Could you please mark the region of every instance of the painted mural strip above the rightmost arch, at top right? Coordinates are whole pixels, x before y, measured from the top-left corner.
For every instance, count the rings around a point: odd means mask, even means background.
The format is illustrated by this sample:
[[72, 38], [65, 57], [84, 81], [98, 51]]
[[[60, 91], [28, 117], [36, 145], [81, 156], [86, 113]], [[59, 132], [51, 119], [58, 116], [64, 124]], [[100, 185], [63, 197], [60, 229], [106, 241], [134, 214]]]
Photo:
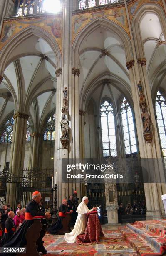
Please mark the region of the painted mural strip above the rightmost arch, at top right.
[[128, 5], [130, 20], [132, 20], [134, 14], [141, 7], [141, 5], [145, 3], [158, 3], [159, 5], [163, 6], [161, 0], [136, 0]]

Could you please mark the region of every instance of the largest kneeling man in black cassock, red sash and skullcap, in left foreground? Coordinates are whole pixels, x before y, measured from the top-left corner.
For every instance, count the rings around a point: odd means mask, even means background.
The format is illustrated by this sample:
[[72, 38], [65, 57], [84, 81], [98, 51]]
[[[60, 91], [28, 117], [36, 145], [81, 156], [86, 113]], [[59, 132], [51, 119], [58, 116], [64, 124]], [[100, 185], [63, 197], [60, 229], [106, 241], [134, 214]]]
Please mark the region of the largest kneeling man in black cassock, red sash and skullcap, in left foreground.
[[[15, 235], [12, 236], [12, 238], [7, 243], [4, 244], [4, 247], [25, 247], [27, 244], [26, 232], [27, 229], [33, 224], [33, 217], [43, 216], [43, 218], [51, 218], [50, 212], [44, 213], [40, 210], [39, 202], [41, 198], [42, 197], [39, 191], [33, 192], [32, 200], [30, 200], [30, 202], [28, 202], [26, 205], [25, 221], [22, 223], [21, 227], [15, 233]], [[40, 231], [40, 236], [36, 241], [37, 251], [46, 254], [47, 250], [45, 250], [45, 247], [43, 246], [44, 242], [42, 241], [42, 238], [45, 235], [47, 223], [45, 223], [45, 219], [41, 220], [41, 223], [42, 230]]]

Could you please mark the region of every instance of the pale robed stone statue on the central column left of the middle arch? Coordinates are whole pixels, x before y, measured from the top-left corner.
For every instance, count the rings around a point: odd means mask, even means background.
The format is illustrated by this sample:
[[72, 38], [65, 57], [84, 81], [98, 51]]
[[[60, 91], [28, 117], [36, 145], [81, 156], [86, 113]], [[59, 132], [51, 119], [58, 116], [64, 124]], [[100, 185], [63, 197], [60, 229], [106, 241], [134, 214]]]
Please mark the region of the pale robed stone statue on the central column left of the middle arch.
[[69, 120], [64, 114], [62, 114], [60, 125], [62, 132], [60, 141], [62, 143], [63, 148], [67, 148], [67, 145], [69, 144]]

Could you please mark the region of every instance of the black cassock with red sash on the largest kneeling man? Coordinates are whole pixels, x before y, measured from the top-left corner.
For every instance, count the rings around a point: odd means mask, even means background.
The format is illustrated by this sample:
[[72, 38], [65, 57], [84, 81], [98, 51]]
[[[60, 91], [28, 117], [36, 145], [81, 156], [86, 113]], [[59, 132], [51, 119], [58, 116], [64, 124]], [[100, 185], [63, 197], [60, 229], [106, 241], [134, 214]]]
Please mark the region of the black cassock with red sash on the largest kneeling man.
[[[40, 210], [40, 206], [37, 202], [34, 200], [31, 200], [27, 206], [26, 206], [26, 212], [25, 212], [25, 220], [20, 226], [20, 228], [17, 230], [14, 236], [10, 238], [10, 240], [4, 244], [4, 247], [25, 247], [27, 244], [25, 234], [27, 232], [27, 228], [30, 227], [30, 225], [33, 224], [33, 220], [30, 220], [26, 218], [26, 213], [34, 216], [45, 216], [45, 213]], [[47, 221], [44, 219], [41, 221], [42, 224], [48, 225]], [[37, 251], [39, 252], [45, 252], [45, 248], [42, 243], [42, 238], [45, 235], [45, 228], [47, 226], [43, 226], [42, 230], [40, 231], [40, 237], [38, 238], [36, 244], [37, 244]]]

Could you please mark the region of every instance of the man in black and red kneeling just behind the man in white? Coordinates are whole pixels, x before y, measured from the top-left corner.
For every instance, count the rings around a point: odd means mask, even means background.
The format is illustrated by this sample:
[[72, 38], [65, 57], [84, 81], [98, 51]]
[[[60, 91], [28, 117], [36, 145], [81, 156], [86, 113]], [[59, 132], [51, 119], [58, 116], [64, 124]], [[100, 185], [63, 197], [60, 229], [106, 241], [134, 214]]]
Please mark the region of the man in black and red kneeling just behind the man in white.
[[[73, 210], [70, 210], [72, 212]], [[55, 224], [53, 224], [50, 228], [48, 228], [48, 232], [50, 234], [57, 234], [58, 231], [63, 227], [62, 220], [66, 217], [66, 212], [69, 212], [67, 209], [67, 200], [63, 199], [62, 204], [59, 207], [59, 217]]]

